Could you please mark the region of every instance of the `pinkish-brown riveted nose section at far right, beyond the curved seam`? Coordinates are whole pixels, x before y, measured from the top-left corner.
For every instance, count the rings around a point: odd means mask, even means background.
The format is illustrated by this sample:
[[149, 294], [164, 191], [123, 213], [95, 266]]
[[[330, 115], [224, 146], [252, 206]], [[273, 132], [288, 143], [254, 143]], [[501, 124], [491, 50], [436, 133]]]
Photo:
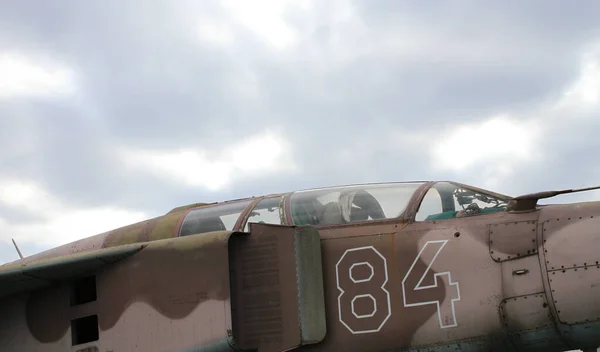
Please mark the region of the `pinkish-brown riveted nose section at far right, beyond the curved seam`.
[[540, 226], [556, 316], [568, 325], [600, 322], [600, 202], [547, 210]]

